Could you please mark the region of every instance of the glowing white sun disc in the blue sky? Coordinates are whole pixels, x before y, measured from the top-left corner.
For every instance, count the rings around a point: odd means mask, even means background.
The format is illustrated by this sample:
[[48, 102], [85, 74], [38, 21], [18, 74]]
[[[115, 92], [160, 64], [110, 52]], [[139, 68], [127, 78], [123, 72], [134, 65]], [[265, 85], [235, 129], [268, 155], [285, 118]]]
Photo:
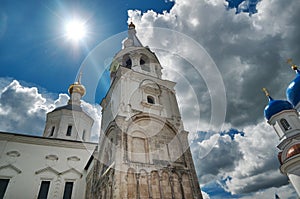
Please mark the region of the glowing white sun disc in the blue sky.
[[83, 21], [72, 19], [65, 25], [66, 36], [73, 41], [79, 41], [86, 36], [86, 26]]

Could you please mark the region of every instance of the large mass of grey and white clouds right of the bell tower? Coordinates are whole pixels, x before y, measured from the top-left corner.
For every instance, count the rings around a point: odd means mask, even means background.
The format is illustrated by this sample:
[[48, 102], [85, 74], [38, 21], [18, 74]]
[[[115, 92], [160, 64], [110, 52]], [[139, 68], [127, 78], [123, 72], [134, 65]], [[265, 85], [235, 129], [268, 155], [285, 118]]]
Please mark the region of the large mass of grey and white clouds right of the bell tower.
[[[295, 63], [300, 63], [297, 58], [300, 54], [300, 4], [275, 0], [260, 1], [255, 6], [258, 12], [249, 17], [245, 13], [236, 15], [234, 10], [226, 10], [221, 1], [177, 0], [169, 13], [159, 15], [129, 11], [129, 16], [138, 33], [142, 32], [139, 35], [141, 40], [150, 47], [151, 43], [147, 43], [149, 37], [156, 39], [152, 41], [156, 45], [156, 42], [163, 42], [160, 40], [163, 35], [143, 32], [145, 27], [170, 28], [194, 39], [208, 52], [222, 76], [227, 99], [224, 128], [234, 127], [245, 134], [234, 135], [232, 140], [226, 135], [201, 135], [199, 140], [193, 132], [207, 130], [205, 123], [210, 121], [213, 108], [210, 94], [214, 91], [207, 89], [204, 78], [197, 76], [185, 61], [159, 57], [171, 68], [179, 68], [181, 76], [186, 77], [185, 81], [193, 88], [187, 89], [187, 84], [181, 84], [184, 82], [182, 79], [167, 73], [167, 79], [178, 83], [176, 92], [184, 125], [192, 132], [192, 150], [200, 183], [203, 185], [230, 177], [228, 179], [231, 180], [227, 180], [223, 187], [232, 194], [270, 197], [273, 193], [269, 190], [280, 187], [278, 189], [285, 189], [288, 198], [295, 196], [295, 192], [287, 191], [290, 187], [283, 186], [287, 184], [287, 178], [278, 169], [278, 139], [263, 118], [263, 109], [268, 101], [261, 88], [267, 87], [275, 99], [285, 98], [285, 89], [295, 76], [286, 60], [294, 57]], [[200, 56], [172, 35], [169, 38], [173, 39], [167, 44], [170, 48], [177, 47], [195, 57]], [[205, 66], [204, 59], [201, 64]], [[217, 89], [218, 82], [215, 87]], [[196, 91], [194, 96], [191, 94], [193, 90]], [[190, 106], [195, 98], [202, 108], [200, 116], [204, 121], [196, 129], [199, 117]], [[214, 139], [216, 136], [219, 136], [218, 140]], [[258, 192], [265, 195], [254, 194]]]

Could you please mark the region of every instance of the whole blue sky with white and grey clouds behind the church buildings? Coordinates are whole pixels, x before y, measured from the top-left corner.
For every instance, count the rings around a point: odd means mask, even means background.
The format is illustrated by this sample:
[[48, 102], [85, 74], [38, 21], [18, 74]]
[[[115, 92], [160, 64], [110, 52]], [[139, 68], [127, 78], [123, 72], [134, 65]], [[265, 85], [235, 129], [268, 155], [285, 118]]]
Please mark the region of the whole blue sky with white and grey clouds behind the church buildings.
[[[205, 198], [295, 198], [278, 169], [279, 140], [263, 117], [261, 88], [285, 98], [295, 76], [286, 60], [300, 62], [299, 17], [298, 1], [281, 0], [1, 1], [0, 130], [41, 135], [45, 114], [67, 102], [69, 84], [88, 67], [83, 83], [92, 95], [83, 106], [99, 121], [106, 67], [132, 20], [164, 78], [178, 82]], [[87, 29], [79, 41], [66, 35], [74, 18]], [[96, 85], [91, 71], [101, 76]]]

